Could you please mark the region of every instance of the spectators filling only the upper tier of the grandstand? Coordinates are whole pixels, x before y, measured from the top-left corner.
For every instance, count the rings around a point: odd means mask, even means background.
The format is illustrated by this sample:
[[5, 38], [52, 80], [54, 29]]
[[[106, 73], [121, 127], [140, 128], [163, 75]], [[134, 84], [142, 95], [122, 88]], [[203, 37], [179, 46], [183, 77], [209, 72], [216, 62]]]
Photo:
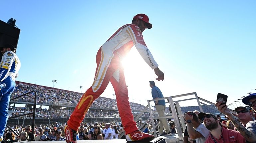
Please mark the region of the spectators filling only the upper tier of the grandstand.
[[[73, 92], [63, 89], [54, 89], [50, 87], [18, 82], [18, 84], [16, 84], [14, 92], [12, 93], [12, 98], [29, 92], [31, 90], [35, 90], [37, 92], [38, 105], [63, 105], [65, 107], [71, 105], [75, 107], [82, 96], [82, 93], [79, 92]], [[30, 94], [20, 97], [19, 99], [15, 99], [15, 102], [34, 102], [34, 96], [35, 93], [32, 92]], [[141, 111], [145, 108], [145, 106], [138, 103], [130, 102], [130, 105], [132, 111]], [[97, 98], [92, 103], [91, 108], [118, 110], [116, 100], [106, 97]]]

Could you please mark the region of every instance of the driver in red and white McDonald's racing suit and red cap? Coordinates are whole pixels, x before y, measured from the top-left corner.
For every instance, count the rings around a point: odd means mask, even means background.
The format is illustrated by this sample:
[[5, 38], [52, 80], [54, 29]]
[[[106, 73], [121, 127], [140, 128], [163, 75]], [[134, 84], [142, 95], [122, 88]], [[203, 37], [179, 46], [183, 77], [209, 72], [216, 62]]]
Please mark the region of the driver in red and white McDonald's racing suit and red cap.
[[83, 94], [77, 103], [70, 119], [64, 126], [66, 142], [76, 142], [75, 133], [85, 117], [92, 102], [106, 89], [109, 81], [116, 94], [118, 111], [124, 126], [127, 141], [150, 141], [155, 137], [138, 130], [133, 120], [131, 107], [128, 101], [128, 89], [125, 84], [121, 59], [130, 51], [133, 45], [143, 59], [155, 70], [156, 80], [164, 80], [163, 72], [158, 68], [152, 54], [147, 48], [142, 32], [152, 28], [145, 14], [138, 14], [133, 18], [132, 24], [120, 27], [98, 50], [96, 55], [97, 68], [92, 86]]

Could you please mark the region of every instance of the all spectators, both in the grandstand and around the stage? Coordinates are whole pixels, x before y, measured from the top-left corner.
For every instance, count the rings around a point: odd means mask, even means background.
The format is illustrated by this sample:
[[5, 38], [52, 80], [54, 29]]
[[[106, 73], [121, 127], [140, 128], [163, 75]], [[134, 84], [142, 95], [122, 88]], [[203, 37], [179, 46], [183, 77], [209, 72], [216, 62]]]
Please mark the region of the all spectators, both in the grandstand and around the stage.
[[[77, 101], [80, 99], [81, 95], [80, 93], [77, 92], [71, 92], [71, 91], [66, 91], [66, 90], [61, 90], [61, 89], [50, 89], [47, 87], [42, 87], [42, 86], [36, 86], [36, 85], [30, 85], [30, 84], [24, 84], [24, 83], [19, 83], [17, 84], [16, 90], [13, 93], [13, 97], [18, 96], [23, 94], [24, 92], [30, 91], [30, 90], [36, 90], [38, 93], [38, 102], [39, 103], [47, 103], [47, 102], [52, 102], [52, 104], [76, 104]], [[23, 97], [21, 100], [19, 101], [28, 101], [32, 100], [34, 93], [28, 94], [26, 97]], [[66, 94], [69, 94], [69, 96], [64, 96]], [[223, 119], [220, 118], [220, 116], [216, 116], [216, 113], [219, 113], [216, 110], [213, 110], [212, 108], [209, 108], [208, 106], [202, 106], [203, 110], [205, 111], [205, 113], [201, 112], [199, 113], [197, 110], [199, 110], [198, 106], [190, 106], [190, 107], [181, 107], [181, 110], [184, 114], [184, 119], [185, 122], [187, 122], [187, 133], [185, 130], [184, 133], [184, 142], [188, 143], [191, 142], [193, 143], [193, 140], [195, 140], [197, 143], [213, 143], [211, 139], [209, 139], [209, 135], [212, 134], [211, 138], [212, 139], [220, 139], [217, 138], [219, 137], [219, 133], [223, 133], [223, 136], [226, 136], [226, 133], [232, 133], [233, 136], [232, 139], [233, 141], [235, 141], [234, 139], [237, 138], [237, 140], [235, 142], [239, 142], [239, 143], [245, 143], [245, 141], [247, 142], [255, 142], [256, 141], [256, 120], [255, 120], [255, 111], [256, 111], [256, 93], [253, 93], [252, 95], [248, 95], [251, 96], [250, 98], [248, 98], [248, 101], [243, 101], [244, 104], [249, 105], [248, 107], [237, 107], [234, 111], [236, 112], [236, 114], [231, 114], [231, 112], [229, 111], [229, 109], [227, 109], [225, 106], [220, 105], [220, 103], [216, 103], [216, 107], [219, 110], [219, 112], [221, 112], [222, 114], [226, 114], [226, 120], [223, 121]], [[65, 97], [65, 98], [63, 98]], [[246, 98], [246, 97], [245, 97]], [[77, 99], [76, 101], [73, 101], [73, 99]], [[18, 101], [18, 102], [19, 102]], [[33, 101], [33, 100], [32, 100]], [[250, 101], [250, 102], [249, 102]], [[18, 103], [17, 102], [17, 103]], [[108, 103], [108, 105], [110, 104], [111, 107], [106, 107], [104, 105], [107, 105], [106, 103]], [[140, 104], [137, 103], [130, 103], [131, 104], [131, 108], [132, 108], [132, 112], [133, 114], [136, 116], [138, 115], [141, 111], [145, 108], [145, 106], [142, 106]], [[213, 105], [210, 105], [213, 106]], [[213, 106], [213, 107], [215, 107]], [[53, 106], [52, 106], [53, 107]], [[57, 106], [55, 106], [57, 107]], [[105, 110], [104, 110], [105, 109]], [[24, 107], [9, 107], [11, 116], [15, 116], [15, 115], [19, 115], [21, 113], [25, 113], [25, 112], [31, 112], [32, 109], [26, 109]], [[191, 112], [192, 110], [195, 110], [194, 112]], [[190, 112], [188, 112], [190, 111]], [[169, 107], [166, 107], [165, 110], [166, 114], [170, 113]], [[206, 113], [208, 112], [208, 113]], [[47, 110], [46, 108], [42, 109], [42, 108], [37, 108], [36, 110], [36, 116], [37, 118], [66, 118], [69, 117], [70, 114], [72, 113], [70, 110], [68, 109], [62, 109], [59, 107], [58, 108], [51, 108], [49, 110]], [[154, 112], [153, 112], [154, 113]], [[214, 115], [215, 114], [215, 115]], [[198, 116], [197, 116], [198, 115]], [[149, 117], [149, 113], [144, 113], [143, 115], [144, 117]], [[237, 117], [235, 117], [237, 116]], [[116, 105], [116, 101], [114, 99], [110, 99], [110, 98], [105, 98], [105, 97], [99, 97], [98, 99], [95, 100], [95, 102], [93, 102], [91, 109], [87, 112], [86, 118], [95, 118], [95, 117], [105, 117], [105, 118], [111, 118], [111, 117], [119, 117], [118, 115], [118, 110], [117, 110], [117, 105]], [[155, 115], [154, 115], [155, 117]], [[183, 120], [182, 118], [180, 118], [181, 120]], [[169, 119], [171, 120], [171, 119]], [[255, 120], [255, 121], [254, 121]], [[156, 126], [156, 131], [159, 129], [157, 124], [159, 124], [159, 121], [156, 120], [154, 121]], [[223, 124], [221, 124], [223, 123]], [[172, 129], [172, 133], [176, 133], [176, 129], [175, 129], [175, 124], [174, 121], [170, 121], [170, 128]], [[214, 128], [215, 125], [216, 128]], [[143, 121], [139, 120], [137, 121], [137, 126], [144, 132], [147, 133], [152, 133], [153, 131], [153, 125], [151, 125], [150, 121]], [[19, 139], [21, 138], [22, 140], [26, 140], [26, 138], [24, 138], [24, 136], [28, 136], [29, 133], [25, 133], [25, 131], [27, 130], [27, 127], [24, 127], [23, 125], [20, 126], [12, 126], [12, 128], [14, 129], [14, 131], [18, 134], [15, 135], [13, 132], [9, 132], [8, 128], [5, 131], [5, 138], [6, 139]], [[81, 123], [81, 126], [79, 127], [78, 131], [77, 131], [77, 139], [80, 140], [86, 140], [86, 139], [96, 139], [95, 136], [93, 134], [95, 134], [95, 129], [99, 129], [100, 130], [104, 130], [104, 128], [111, 128], [114, 132], [112, 132], [113, 134], [109, 137], [109, 139], [112, 138], [120, 138], [122, 136], [122, 134], [124, 133], [123, 130], [123, 126], [120, 122], [111, 122], [111, 123], [97, 123], [95, 122], [94, 124], [92, 123]], [[187, 129], [186, 128], [186, 129]], [[200, 129], [199, 129], [200, 128]], [[196, 130], [197, 132], [195, 132], [194, 130]], [[222, 130], [224, 130], [224, 132], [222, 132]], [[234, 132], [234, 131], [230, 131], [230, 130], [238, 130], [239, 132]], [[44, 132], [46, 131], [46, 132]], [[43, 132], [43, 134], [42, 134]], [[55, 133], [57, 133], [57, 135], [59, 137], [57, 137], [55, 135], [55, 138], [52, 138], [49, 133], [54, 132], [52, 134], [50, 134], [51, 136]], [[97, 139], [106, 139], [106, 137], [104, 137], [104, 133], [103, 132], [99, 132], [99, 130], [96, 130], [96, 133], [99, 135], [99, 137], [97, 137]], [[110, 132], [111, 133], [111, 132]], [[110, 134], [109, 133], [109, 134]], [[39, 126], [35, 126], [35, 132], [33, 133], [34, 136], [40, 136], [43, 137], [43, 140], [65, 140], [64, 138], [64, 131], [63, 131], [63, 126], [62, 124], [58, 124], [56, 123], [55, 125], [39, 125]], [[62, 137], [60, 137], [60, 135]], [[189, 137], [190, 135], [190, 137]], [[186, 138], [187, 136], [187, 138]], [[47, 138], [46, 138], [47, 137]], [[125, 136], [124, 136], [125, 138]], [[36, 139], [36, 138], [35, 138]], [[221, 139], [220, 139], [221, 140]], [[222, 138], [222, 142], [228, 142], [228, 140], [224, 140]]]

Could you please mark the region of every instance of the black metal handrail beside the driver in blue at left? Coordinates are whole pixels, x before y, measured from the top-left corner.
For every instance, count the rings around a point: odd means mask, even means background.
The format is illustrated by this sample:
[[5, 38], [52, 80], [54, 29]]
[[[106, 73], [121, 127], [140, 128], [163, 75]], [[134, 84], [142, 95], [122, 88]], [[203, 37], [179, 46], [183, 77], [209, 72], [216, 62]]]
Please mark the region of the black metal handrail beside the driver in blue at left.
[[[19, 95], [17, 97], [14, 97], [12, 99], [10, 99], [10, 101], [14, 100], [14, 99], [17, 99], [19, 97], [22, 97], [26, 94], [29, 94], [31, 92], [34, 92], [35, 93], [35, 103], [34, 103], [34, 108], [33, 108], [33, 112], [30, 112], [30, 113], [25, 113], [25, 114], [20, 114], [20, 115], [17, 115], [17, 116], [13, 116], [13, 117], [10, 117], [9, 119], [12, 119], [12, 118], [16, 118], [16, 117], [21, 117], [21, 116], [24, 116], [24, 115], [30, 115], [30, 114], [33, 114], [33, 119], [32, 119], [32, 134], [31, 134], [31, 137], [29, 138], [29, 141], [32, 141], [34, 139], [34, 127], [35, 127], [35, 117], [36, 117], [36, 106], [37, 106], [37, 92], [35, 90], [31, 90], [29, 92], [26, 92], [22, 95]], [[8, 119], [8, 120], [9, 120]], [[6, 125], [7, 127], [10, 128], [10, 126]], [[11, 128], [10, 128], [11, 129]], [[12, 130], [12, 129], [11, 129]], [[13, 131], [13, 130], [12, 130]], [[19, 134], [17, 134], [15, 131], [13, 131], [17, 136], [19, 136]]]

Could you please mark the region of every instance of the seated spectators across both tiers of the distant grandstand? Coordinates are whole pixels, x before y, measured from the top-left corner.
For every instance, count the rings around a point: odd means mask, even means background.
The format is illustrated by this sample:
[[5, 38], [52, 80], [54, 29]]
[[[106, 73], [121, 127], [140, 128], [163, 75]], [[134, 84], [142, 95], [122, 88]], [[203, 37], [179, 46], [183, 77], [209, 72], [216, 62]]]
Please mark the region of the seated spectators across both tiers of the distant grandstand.
[[[44, 109], [37, 108], [36, 118], [44, 118], [44, 119], [68, 118], [72, 114], [72, 110], [70, 111], [69, 110], [70, 108], [64, 108], [64, 109], [60, 107], [58, 108], [58, 105], [63, 105], [63, 106], [66, 105], [66, 107], [68, 105], [70, 107], [71, 105], [72, 107], [75, 107], [78, 100], [82, 96], [82, 94], [78, 92], [67, 91], [62, 89], [54, 89], [50, 87], [18, 82], [18, 84], [16, 84], [16, 89], [12, 94], [12, 98], [31, 90], [35, 90], [37, 92], [38, 104], [49, 105], [49, 110], [47, 110], [46, 108]], [[34, 102], [34, 99], [33, 99], [34, 96], [35, 96], [34, 92], [32, 92], [30, 94], [22, 96], [19, 99], [16, 99], [15, 102], [16, 103]], [[56, 105], [56, 106], [53, 106], [55, 108], [50, 108], [52, 107], [51, 105]], [[108, 106], [105, 106], [105, 105], [108, 105]], [[145, 106], [138, 103], [130, 102], [130, 105], [131, 105], [132, 113], [135, 117], [139, 115], [140, 111], [145, 108]], [[211, 113], [216, 112], [207, 106], [202, 106], [202, 107], [203, 107], [203, 110], [206, 112], [211, 112]], [[181, 107], [181, 110], [182, 112], [185, 112], [188, 110], [199, 110], [199, 107], [198, 106]], [[10, 111], [9, 116], [12, 117], [12, 116], [19, 115], [21, 113], [25, 113], [25, 111], [26, 113], [33, 112], [33, 109], [28, 108], [26, 110], [25, 107], [10, 106], [9, 111]], [[170, 115], [169, 107], [166, 107], [165, 113]], [[157, 113], [153, 112], [153, 114], [157, 114]], [[27, 115], [27, 117], [31, 118], [32, 114]], [[106, 97], [97, 98], [92, 103], [90, 110], [85, 115], [85, 118], [97, 118], [97, 117], [118, 118], [119, 113], [117, 109], [116, 100], [111, 98], [106, 98]], [[149, 110], [147, 110], [147, 112], [145, 112], [141, 117], [149, 117]]]

